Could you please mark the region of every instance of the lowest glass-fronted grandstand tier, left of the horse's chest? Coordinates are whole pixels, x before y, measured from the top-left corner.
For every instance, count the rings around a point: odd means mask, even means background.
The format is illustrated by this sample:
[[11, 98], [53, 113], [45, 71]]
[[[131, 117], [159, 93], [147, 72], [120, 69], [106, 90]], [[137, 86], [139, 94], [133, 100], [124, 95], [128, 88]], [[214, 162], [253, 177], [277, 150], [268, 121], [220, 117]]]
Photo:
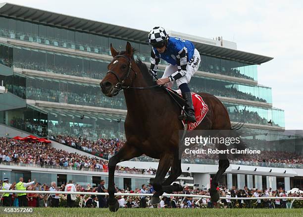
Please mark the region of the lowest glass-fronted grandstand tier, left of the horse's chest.
[[99, 138], [124, 139], [123, 116], [77, 110], [22, 108], [7, 110], [1, 122], [8, 126], [45, 137], [64, 135], [83, 137], [92, 141]]

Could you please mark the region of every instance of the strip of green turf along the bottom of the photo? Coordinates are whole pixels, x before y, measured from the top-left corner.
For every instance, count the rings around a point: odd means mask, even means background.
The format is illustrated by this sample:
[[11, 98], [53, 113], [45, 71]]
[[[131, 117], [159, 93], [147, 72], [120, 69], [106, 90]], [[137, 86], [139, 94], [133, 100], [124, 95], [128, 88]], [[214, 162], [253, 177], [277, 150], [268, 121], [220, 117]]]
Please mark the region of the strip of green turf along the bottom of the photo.
[[[0, 216], [21, 216], [20, 214]], [[22, 215], [25, 216], [25, 215]], [[303, 209], [108, 209], [36, 208], [29, 217], [302, 217]]]

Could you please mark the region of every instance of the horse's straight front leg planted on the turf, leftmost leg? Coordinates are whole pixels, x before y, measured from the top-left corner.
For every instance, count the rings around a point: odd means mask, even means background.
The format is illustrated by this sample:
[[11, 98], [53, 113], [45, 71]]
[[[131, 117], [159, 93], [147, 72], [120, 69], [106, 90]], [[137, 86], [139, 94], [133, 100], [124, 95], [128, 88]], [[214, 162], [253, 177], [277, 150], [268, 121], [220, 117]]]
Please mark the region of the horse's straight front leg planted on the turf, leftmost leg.
[[135, 147], [131, 146], [126, 142], [123, 147], [118, 151], [117, 154], [112, 156], [108, 161], [108, 194], [109, 201], [108, 207], [111, 212], [116, 212], [119, 209], [119, 203], [115, 199], [115, 185], [114, 185], [114, 173], [117, 163], [128, 161], [132, 158], [141, 156], [142, 153], [139, 152]]

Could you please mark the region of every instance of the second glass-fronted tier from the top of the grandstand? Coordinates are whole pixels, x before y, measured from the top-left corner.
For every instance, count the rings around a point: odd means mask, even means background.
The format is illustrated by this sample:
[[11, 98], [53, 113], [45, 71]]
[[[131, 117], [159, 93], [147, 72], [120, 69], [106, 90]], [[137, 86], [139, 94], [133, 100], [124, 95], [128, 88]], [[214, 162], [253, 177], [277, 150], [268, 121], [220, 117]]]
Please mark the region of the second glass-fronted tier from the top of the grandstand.
[[[6, 48], [5, 46], [0, 46]], [[54, 72], [65, 75], [102, 79], [107, 71], [108, 60], [84, 58], [62, 53], [51, 53], [28, 48], [10, 48], [12, 65], [18, 68]], [[3, 57], [4, 58], [4, 57]], [[159, 75], [161, 72], [159, 72]], [[261, 86], [247, 86], [231, 82], [193, 77], [191, 88], [194, 92], [206, 92], [215, 96], [271, 102], [271, 89]]]

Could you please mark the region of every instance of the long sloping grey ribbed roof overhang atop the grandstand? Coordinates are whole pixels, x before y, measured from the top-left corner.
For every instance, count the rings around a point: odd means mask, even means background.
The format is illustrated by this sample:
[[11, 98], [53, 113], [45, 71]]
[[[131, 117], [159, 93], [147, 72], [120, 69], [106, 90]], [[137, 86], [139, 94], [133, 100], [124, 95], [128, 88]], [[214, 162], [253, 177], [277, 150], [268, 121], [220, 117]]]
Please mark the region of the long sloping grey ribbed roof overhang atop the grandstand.
[[[68, 16], [11, 3], [0, 3], [0, 15], [62, 28], [122, 38], [130, 41], [147, 43], [147, 31]], [[199, 50], [200, 54], [237, 60], [246, 62], [248, 64], [261, 64], [273, 59], [272, 57], [268, 56], [228, 49], [216, 45], [195, 42], [194, 44]]]

